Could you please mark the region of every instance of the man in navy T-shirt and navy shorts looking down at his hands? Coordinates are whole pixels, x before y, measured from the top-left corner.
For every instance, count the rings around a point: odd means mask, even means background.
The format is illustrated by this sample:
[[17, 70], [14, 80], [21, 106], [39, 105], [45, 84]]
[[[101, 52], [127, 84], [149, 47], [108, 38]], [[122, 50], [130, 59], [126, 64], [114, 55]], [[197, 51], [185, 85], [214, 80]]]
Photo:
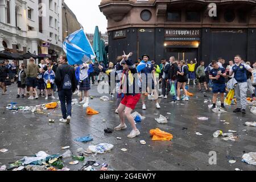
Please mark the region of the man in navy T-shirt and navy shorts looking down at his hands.
[[220, 68], [217, 61], [212, 61], [212, 70], [209, 73], [209, 78], [212, 80], [212, 92], [213, 92], [213, 106], [212, 109], [216, 108], [217, 102], [217, 95], [220, 93], [221, 95], [221, 109], [226, 110], [224, 106], [224, 93], [226, 92], [226, 85], [225, 85], [225, 77], [226, 77], [226, 70], [225, 68]]

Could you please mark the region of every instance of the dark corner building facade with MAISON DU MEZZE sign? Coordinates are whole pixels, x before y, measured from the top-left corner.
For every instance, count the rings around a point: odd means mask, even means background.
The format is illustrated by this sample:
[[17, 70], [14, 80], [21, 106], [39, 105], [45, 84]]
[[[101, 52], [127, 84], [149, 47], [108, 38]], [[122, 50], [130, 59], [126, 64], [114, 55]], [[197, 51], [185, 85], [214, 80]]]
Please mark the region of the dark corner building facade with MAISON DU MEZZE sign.
[[108, 19], [110, 60], [125, 50], [158, 63], [170, 56], [256, 61], [255, 0], [102, 0], [99, 7]]

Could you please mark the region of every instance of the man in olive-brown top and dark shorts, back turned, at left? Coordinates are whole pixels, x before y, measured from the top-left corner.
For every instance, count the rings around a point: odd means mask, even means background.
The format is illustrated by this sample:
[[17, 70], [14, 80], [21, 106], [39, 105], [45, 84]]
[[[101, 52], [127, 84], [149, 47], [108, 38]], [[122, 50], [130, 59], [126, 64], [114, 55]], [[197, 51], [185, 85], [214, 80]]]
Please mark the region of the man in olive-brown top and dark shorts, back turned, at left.
[[33, 100], [33, 92], [35, 92], [35, 99], [38, 99], [38, 93], [36, 90], [36, 86], [38, 86], [38, 73], [39, 67], [35, 64], [35, 59], [30, 57], [30, 63], [27, 65], [27, 87], [30, 90], [30, 97], [28, 99]]

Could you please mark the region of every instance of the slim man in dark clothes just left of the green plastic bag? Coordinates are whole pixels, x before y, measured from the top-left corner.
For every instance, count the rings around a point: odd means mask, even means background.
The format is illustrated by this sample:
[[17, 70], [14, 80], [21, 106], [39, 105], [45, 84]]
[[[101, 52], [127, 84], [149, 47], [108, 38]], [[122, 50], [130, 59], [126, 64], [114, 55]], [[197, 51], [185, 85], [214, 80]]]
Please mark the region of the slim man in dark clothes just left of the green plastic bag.
[[168, 80], [168, 72], [170, 70], [170, 63], [168, 63], [166, 61], [166, 59], [162, 59], [162, 63], [163, 63], [163, 69], [161, 72], [161, 82], [162, 82], [162, 95], [159, 96], [159, 98], [164, 98], [167, 99], [168, 98], [168, 94], [170, 92], [170, 84], [169, 84], [169, 80]]

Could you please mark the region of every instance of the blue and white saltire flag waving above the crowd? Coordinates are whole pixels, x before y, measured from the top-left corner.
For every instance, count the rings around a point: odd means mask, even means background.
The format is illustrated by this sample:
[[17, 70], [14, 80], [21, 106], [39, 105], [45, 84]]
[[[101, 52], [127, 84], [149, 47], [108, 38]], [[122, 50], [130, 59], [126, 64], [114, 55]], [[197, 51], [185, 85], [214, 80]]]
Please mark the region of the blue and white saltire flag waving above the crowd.
[[70, 65], [86, 63], [96, 58], [83, 29], [73, 32], [65, 38], [63, 50]]

